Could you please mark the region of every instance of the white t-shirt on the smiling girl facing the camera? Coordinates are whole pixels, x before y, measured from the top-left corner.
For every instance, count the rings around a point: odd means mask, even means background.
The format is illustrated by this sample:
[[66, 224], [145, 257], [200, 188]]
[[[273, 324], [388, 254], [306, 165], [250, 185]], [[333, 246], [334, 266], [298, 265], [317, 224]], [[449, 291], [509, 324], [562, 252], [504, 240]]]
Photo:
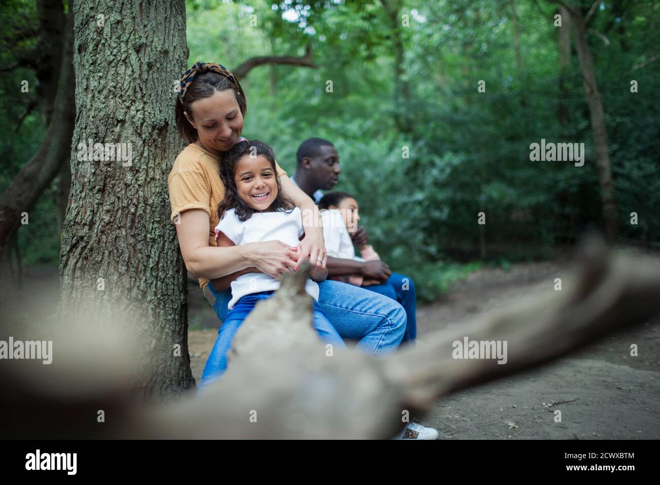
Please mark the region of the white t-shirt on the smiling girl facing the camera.
[[[278, 212], [255, 212], [245, 222], [238, 220], [236, 210], [227, 210], [215, 228], [227, 236], [234, 244], [241, 245], [253, 242], [267, 242], [279, 240], [286, 245], [296, 247], [300, 243], [300, 236], [305, 232], [302, 227], [300, 209], [295, 207], [287, 214], [283, 210]], [[232, 300], [228, 309], [232, 309], [242, 296], [268, 290], [277, 290], [279, 280], [265, 273], [246, 273], [232, 281]], [[305, 291], [308, 295], [319, 301], [319, 285], [311, 278], [307, 278]]]

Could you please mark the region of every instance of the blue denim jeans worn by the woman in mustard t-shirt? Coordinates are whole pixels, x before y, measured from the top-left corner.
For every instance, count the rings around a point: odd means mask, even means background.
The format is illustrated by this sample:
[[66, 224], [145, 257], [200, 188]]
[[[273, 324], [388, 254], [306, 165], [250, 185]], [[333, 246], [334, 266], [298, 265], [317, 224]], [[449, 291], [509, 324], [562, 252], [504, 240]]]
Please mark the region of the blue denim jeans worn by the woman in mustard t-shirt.
[[[315, 308], [325, 313], [327, 319], [332, 322], [331, 327], [336, 329], [342, 339], [358, 340], [356, 348], [371, 355], [385, 354], [397, 349], [406, 329], [406, 312], [401, 305], [386, 296], [352, 284], [325, 280], [318, 285], [319, 301]], [[213, 288], [213, 283], [209, 282], [209, 290], [215, 296], [213, 309], [224, 323], [207, 359], [199, 383], [200, 388], [224, 372], [225, 356], [238, 329], [238, 325], [232, 325], [223, 331], [225, 325], [230, 323], [231, 311], [228, 311], [227, 304], [232, 299], [232, 289], [218, 292]]]

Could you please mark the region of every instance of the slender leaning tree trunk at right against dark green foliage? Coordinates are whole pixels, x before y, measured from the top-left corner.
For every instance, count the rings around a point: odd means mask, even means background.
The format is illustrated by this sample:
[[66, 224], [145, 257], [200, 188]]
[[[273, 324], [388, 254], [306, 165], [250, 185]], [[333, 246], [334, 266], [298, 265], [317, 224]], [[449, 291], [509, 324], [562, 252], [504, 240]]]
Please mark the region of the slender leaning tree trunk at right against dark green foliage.
[[582, 71], [589, 113], [591, 115], [591, 131], [593, 133], [593, 144], [596, 150], [596, 170], [598, 181], [601, 186], [601, 197], [603, 198], [603, 218], [605, 220], [605, 234], [609, 242], [616, 241], [618, 237], [618, 209], [616, 207], [616, 196], [612, 184], [612, 172], [610, 168], [610, 154], [607, 146], [607, 128], [605, 127], [605, 113], [601, 95], [596, 85], [596, 77], [593, 72], [591, 52], [587, 43], [587, 33], [579, 9], [570, 7], [571, 24], [578, 51], [579, 65]]

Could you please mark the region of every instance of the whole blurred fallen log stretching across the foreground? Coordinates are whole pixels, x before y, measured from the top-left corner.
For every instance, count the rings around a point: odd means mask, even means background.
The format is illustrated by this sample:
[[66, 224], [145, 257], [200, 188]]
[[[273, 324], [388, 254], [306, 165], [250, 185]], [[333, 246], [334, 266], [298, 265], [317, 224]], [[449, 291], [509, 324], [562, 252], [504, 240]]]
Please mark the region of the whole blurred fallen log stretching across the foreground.
[[[11, 389], [0, 403], [9, 423], [5, 432], [40, 438], [389, 438], [403, 426], [405, 410], [424, 412], [447, 393], [543, 364], [660, 313], [657, 261], [608, 255], [598, 243], [583, 249], [581, 261], [581, 271], [562, 291], [549, 290], [545, 298], [482, 315], [379, 358], [329, 352], [318, 339], [303, 290], [305, 268], [285, 278], [276, 296], [246, 319], [222, 379], [195, 399], [167, 406], [133, 404], [129, 362], [135, 350], [110, 335], [110, 327], [94, 344], [81, 345], [80, 335], [60, 337], [50, 366], [3, 362], [1, 384]], [[464, 337], [506, 341], [506, 364], [453, 358], [453, 342]], [[104, 422], [98, 422], [99, 410]]]

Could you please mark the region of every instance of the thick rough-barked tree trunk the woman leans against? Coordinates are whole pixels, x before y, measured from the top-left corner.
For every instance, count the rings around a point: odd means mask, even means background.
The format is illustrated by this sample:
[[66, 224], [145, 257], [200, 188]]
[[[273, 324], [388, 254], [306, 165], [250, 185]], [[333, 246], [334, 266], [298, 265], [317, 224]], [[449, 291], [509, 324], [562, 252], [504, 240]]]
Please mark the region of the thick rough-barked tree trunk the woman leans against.
[[[186, 273], [167, 187], [183, 148], [173, 82], [187, 62], [185, 1], [77, 1], [73, 13], [78, 116], [59, 317], [128, 323], [131, 338], [145, 342], [135, 356], [135, 398], [169, 401], [195, 388]], [[92, 157], [78, 148], [89, 140], [125, 144], [132, 158]]]

